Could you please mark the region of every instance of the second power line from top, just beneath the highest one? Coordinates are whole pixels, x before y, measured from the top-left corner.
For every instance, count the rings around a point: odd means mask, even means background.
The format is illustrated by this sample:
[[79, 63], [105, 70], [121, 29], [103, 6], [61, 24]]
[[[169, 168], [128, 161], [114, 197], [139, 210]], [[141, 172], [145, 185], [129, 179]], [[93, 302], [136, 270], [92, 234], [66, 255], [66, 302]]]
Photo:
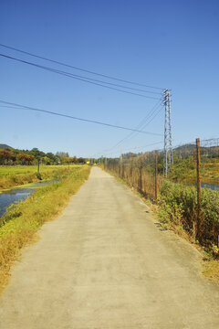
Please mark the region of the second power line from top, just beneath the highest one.
[[[122, 87], [122, 88], [128, 88], [128, 89], [131, 89], [131, 90], [136, 90], [136, 89], [133, 89], [133, 88], [130, 88], [130, 87], [125, 87], [125, 86], [123, 87], [123, 86], [120, 86], [120, 85], [116, 85], [116, 84], [112, 84], [110, 82], [105, 82], [105, 81], [100, 81], [100, 80], [96, 80], [96, 81], [99, 81], [99, 83], [97, 83], [97, 82], [94, 82], [95, 80], [87, 78], [87, 77], [81, 77], [81, 76], [78, 76], [78, 75], [75, 75], [75, 74], [72, 74], [72, 73], [69, 73], [69, 72], [66, 72], [66, 71], [61, 71], [61, 70], [58, 70], [58, 69], [52, 69], [52, 68], [45, 67], [45, 66], [42, 66], [42, 65], [39, 65], [39, 64], [36, 64], [36, 63], [32, 63], [32, 62], [29, 62], [29, 61], [26, 61], [26, 60], [23, 60], [23, 59], [20, 59], [20, 58], [14, 58], [14, 57], [11, 57], [11, 56], [7, 56], [5, 54], [0, 54], [0, 56], [4, 57], [4, 58], [8, 58], [8, 59], [13, 59], [13, 60], [16, 60], [18, 62], [27, 64], [27, 65], [30, 65], [30, 66], [34, 66], [34, 67], [39, 68], [39, 69], [46, 69], [47, 71], [51, 71], [51, 72], [66, 76], [68, 78], [88, 82], [90, 84], [94, 84], [94, 85], [97, 85], [97, 86], [100, 86], [100, 87], [103, 87], [103, 88], [108, 88], [110, 90], [117, 90], [117, 91], [125, 92], [125, 93], [131, 94], [131, 95], [141, 96], [141, 97], [149, 98], [149, 99], [152, 99], [152, 100], [159, 100], [158, 97], [151, 97], [151, 96], [141, 95], [141, 94], [136, 93], [136, 92], [131, 92], [131, 91], [127, 91], [127, 90], [120, 90], [118, 88], [105, 86], [101, 83], [107, 83], [107, 84], [119, 86], [119, 87]], [[146, 90], [145, 90], [145, 92], [146, 92]]]

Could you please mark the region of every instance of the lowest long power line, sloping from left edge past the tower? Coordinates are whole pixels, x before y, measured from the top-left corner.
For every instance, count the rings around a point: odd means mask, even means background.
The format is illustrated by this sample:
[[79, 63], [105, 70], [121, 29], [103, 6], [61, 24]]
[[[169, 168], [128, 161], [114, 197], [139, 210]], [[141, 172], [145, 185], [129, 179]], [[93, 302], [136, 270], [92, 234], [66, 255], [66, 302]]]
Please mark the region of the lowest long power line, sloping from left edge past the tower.
[[146, 133], [146, 134], [151, 134], [151, 135], [156, 135], [156, 136], [162, 136], [161, 133], [144, 132], [144, 131], [140, 131], [140, 130], [136, 130], [136, 129], [124, 127], [124, 126], [110, 124], [110, 123], [107, 123], [107, 122], [98, 122], [98, 121], [95, 121], [95, 120], [78, 118], [78, 117], [75, 117], [75, 116], [72, 116], [72, 115], [62, 114], [62, 113], [58, 113], [58, 112], [54, 112], [54, 111], [41, 110], [41, 109], [33, 108], [33, 107], [30, 107], [30, 106], [17, 104], [17, 103], [14, 103], [14, 102], [1, 101], [1, 100], [0, 100], [0, 102], [2, 102], [3, 104], [9, 105], [9, 106], [10, 105], [16, 106], [16, 107], [18, 107], [19, 109], [22, 109], [22, 110], [40, 111], [40, 112], [44, 112], [44, 113], [48, 113], [48, 114], [53, 114], [53, 115], [65, 117], [65, 118], [68, 118], [68, 119], [78, 120], [78, 121], [82, 121], [82, 122], [91, 122], [91, 123], [101, 124], [101, 125], [108, 126], [108, 127], [113, 127], [113, 128], [128, 130], [128, 131], [132, 131], [132, 132]]

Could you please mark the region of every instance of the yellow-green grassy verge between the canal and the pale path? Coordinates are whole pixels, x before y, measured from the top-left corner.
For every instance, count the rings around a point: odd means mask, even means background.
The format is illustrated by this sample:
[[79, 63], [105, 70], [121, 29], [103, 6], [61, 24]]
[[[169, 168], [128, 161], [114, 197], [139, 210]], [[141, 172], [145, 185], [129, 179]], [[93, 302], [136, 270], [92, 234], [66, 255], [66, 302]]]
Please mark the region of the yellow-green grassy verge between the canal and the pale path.
[[89, 177], [90, 166], [83, 165], [68, 171], [59, 183], [45, 186], [26, 201], [11, 207], [0, 225], [0, 292], [4, 289], [10, 267], [20, 249], [34, 240], [36, 231], [46, 221], [54, 219], [67, 205], [70, 196]]

